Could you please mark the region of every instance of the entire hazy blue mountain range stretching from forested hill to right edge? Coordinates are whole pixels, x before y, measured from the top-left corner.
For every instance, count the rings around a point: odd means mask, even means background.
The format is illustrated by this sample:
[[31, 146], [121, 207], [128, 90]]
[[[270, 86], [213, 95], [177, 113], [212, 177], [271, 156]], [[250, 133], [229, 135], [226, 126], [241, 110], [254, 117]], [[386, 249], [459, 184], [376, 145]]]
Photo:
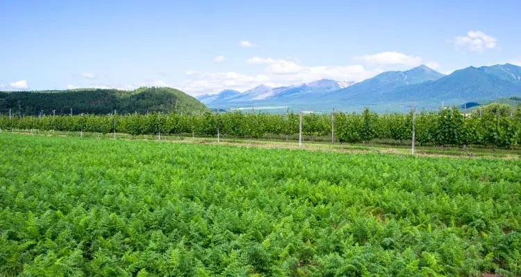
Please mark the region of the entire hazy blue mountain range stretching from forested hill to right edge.
[[197, 97], [208, 107], [285, 106], [311, 111], [408, 111], [438, 109], [442, 105], [521, 96], [521, 66], [496, 64], [456, 70], [444, 75], [420, 65], [408, 71], [386, 71], [362, 82], [322, 79], [288, 87], [261, 84], [247, 91], [226, 89]]

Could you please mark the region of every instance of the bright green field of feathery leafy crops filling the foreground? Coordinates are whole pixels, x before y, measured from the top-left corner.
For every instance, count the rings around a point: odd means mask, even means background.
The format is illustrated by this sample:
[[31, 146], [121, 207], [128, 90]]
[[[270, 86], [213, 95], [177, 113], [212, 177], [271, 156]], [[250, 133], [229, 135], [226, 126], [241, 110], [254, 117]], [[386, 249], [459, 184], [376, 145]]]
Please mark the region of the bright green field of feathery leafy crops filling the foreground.
[[521, 275], [521, 161], [0, 133], [0, 276]]

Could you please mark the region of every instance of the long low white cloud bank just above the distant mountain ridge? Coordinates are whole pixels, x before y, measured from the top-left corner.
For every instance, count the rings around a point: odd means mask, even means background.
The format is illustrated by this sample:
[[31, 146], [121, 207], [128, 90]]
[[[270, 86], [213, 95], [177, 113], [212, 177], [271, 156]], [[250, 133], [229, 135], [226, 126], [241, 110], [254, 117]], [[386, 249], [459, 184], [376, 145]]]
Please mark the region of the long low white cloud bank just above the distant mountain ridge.
[[367, 70], [360, 64], [347, 66], [304, 66], [297, 62], [271, 57], [251, 57], [247, 64], [263, 65], [263, 72], [246, 75], [236, 72], [202, 73], [187, 71], [181, 89], [192, 95], [217, 93], [223, 89], [245, 91], [259, 84], [270, 87], [289, 86], [302, 82], [312, 82], [322, 78], [344, 81], [361, 81], [381, 70]]

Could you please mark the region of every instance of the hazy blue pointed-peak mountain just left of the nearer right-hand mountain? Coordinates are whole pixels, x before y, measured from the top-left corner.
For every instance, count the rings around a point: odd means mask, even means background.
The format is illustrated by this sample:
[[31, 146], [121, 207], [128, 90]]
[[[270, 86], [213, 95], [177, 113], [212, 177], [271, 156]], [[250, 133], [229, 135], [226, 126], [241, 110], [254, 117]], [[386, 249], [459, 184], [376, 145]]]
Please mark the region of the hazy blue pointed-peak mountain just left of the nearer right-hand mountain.
[[331, 97], [336, 101], [378, 102], [386, 93], [398, 87], [438, 80], [443, 76], [445, 75], [425, 65], [408, 71], [387, 71], [345, 89], [334, 91]]

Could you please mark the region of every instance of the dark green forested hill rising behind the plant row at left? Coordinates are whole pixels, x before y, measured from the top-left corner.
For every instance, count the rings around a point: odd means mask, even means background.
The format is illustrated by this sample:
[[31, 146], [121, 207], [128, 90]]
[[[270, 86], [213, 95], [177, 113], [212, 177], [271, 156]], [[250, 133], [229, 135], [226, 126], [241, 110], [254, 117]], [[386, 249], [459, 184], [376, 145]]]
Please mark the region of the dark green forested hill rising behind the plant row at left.
[[44, 114], [118, 114], [147, 111], [174, 111], [199, 114], [210, 111], [199, 100], [169, 87], [141, 87], [134, 91], [117, 89], [72, 89], [66, 91], [0, 91], [0, 112]]

